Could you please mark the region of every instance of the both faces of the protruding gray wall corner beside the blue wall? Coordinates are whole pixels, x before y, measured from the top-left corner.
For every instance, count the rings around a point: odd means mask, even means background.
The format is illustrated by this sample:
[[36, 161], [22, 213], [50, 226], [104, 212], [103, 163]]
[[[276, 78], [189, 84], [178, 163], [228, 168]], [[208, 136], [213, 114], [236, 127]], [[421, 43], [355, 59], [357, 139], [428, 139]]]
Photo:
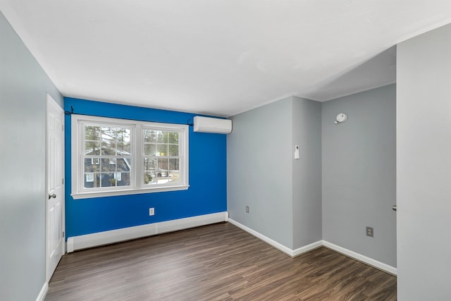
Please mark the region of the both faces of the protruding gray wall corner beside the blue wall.
[[230, 219], [292, 250], [321, 240], [321, 103], [288, 97], [231, 119]]

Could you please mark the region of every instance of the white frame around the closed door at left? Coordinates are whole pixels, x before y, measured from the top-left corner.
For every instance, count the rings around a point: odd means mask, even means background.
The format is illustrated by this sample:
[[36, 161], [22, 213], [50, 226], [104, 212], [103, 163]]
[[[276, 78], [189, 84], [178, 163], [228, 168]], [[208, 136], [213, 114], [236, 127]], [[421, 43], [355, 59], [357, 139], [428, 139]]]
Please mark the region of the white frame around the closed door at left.
[[[63, 108], [61, 108], [61, 106], [58, 105], [58, 103], [53, 99], [53, 97], [50, 96], [49, 93], [47, 93], [46, 96], [46, 116], [45, 116], [45, 279], [46, 279], [46, 283], [48, 284], [50, 281], [51, 276], [53, 276], [53, 274], [50, 274], [49, 271], [49, 209], [48, 209], [48, 193], [49, 193], [49, 123], [48, 123], [48, 118], [49, 118], [49, 106], [55, 106], [58, 110], [61, 111], [61, 113], [63, 113], [63, 128], [64, 130], [66, 130], [66, 125], [64, 122], [64, 110]], [[62, 243], [62, 254], [66, 254], [66, 174], [65, 174], [65, 152], [64, 152], [64, 133], [63, 133], [63, 143], [61, 143], [61, 154], [63, 154], [62, 156], [62, 171], [61, 171], [61, 175], [63, 176], [63, 195], [61, 196], [61, 229], [63, 231], [63, 233], [65, 233], [63, 235], [63, 243]], [[49, 275], [50, 274], [50, 275]]]

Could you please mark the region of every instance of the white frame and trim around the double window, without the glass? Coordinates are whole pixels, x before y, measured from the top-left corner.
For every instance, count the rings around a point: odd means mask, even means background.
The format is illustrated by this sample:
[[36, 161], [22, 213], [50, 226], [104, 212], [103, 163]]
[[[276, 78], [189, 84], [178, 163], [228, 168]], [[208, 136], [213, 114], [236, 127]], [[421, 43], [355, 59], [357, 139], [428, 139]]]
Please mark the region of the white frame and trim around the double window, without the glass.
[[[83, 125], [109, 125], [125, 126], [130, 128], [130, 185], [108, 188], [85, 188], [85, 167], [82, 160], [83, 149]], [[144, 137], [143, 130], [177, 131], [179, 135], [180, 156], [180, 181], [179, 183], [144, 184]], [[72, 193], [74, 199], [87, 199], [92, 197], [109, 197], [114, 195], [135, 195], [149, 192], [164, 192], [173, 190], [187, 190], [188, 182], [188, 125], [173, 123], [152, 123], [144, 121], [132, 121], [118, 118], [106, 118], [97, 116], [72, 115], [71, 120], [71, 166], [72, 166]]]

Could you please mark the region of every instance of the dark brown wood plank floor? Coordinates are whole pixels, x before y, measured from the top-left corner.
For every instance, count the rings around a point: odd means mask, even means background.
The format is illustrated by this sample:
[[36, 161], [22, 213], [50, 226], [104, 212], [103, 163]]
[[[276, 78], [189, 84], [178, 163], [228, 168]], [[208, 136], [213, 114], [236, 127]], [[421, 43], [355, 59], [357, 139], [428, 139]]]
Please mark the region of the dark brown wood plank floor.
[[66, 254], [51, 300], [396, 300], [396, 277], [321, 247], [291, 258], [230, 223]]

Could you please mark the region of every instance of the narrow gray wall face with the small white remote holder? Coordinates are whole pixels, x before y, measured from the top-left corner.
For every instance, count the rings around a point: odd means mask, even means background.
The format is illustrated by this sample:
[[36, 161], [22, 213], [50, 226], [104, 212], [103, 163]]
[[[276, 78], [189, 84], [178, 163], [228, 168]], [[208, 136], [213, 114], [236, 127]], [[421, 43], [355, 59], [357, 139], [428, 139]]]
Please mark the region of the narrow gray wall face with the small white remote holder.
[[[322, 239], [321, 225], [321, 102], [292, 97], [293, 249]], [[292, 149], [292, 156], [294, 153]]]

